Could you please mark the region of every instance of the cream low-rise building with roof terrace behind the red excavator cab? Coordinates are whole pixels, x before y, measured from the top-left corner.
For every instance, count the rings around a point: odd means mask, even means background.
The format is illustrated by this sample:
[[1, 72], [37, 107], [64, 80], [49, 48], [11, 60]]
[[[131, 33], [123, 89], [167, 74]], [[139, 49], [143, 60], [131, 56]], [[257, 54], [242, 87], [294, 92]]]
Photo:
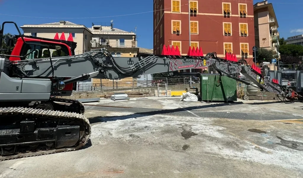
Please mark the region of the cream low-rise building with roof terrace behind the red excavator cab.
[[73, 41], [77, 43], [75, 54], [82, 54], [95, 48], [107, 48], [115, 57], [133, 57], [138, 54], [139, 50], [135, 33], [113, 28], [112, 23], [100, 25], [92, 23], [92, 28], [87, 28], [85, 25], [70, 21], [59, 21], [38, 25], [26, 24], [21, 28], [24, 35], [51, 39], [55, 37], [56, 33], [60, 37], [64, 32], [67, 40], [68, 35], [72, 33]]

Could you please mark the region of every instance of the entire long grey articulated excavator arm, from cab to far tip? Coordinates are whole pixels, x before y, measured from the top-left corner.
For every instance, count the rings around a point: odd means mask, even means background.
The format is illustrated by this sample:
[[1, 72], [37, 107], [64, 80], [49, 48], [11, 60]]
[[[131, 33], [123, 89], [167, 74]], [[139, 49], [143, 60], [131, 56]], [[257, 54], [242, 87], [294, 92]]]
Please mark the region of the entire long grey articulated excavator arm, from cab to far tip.
[[228, 61], [217, 58], [215, 53], [209, 53], [202, 58], [167, 55], [128, 58], [113, 57], [105, 48], [101, 48], [75, 56], [52, 58], [52, 61], [50, 59], [32, 59], [18, 61], [12, 65], [15, 66], [15, 74], [18, 77], [51, 77], [53, 72], [56, 77], [71, 77], [63, 81], [65, 84], [69, 84], [89, 77], [121, 79], [154, 73], [167, 73], [170, 76], [192, 76], [194, 73], [178, 73], [176, 71], [202, 67], [204, 66], [203, 60], [206, 60], [206, 66], [215, 68], [221, 75], [249, 85], [250, 83], [238, 78], [238, 74], [241, 72], [261, 91], [273, 92], [288, 99], [301, 97], [291, 89], [262, 76], [259, 71], [252, 69], [245, 60]]

